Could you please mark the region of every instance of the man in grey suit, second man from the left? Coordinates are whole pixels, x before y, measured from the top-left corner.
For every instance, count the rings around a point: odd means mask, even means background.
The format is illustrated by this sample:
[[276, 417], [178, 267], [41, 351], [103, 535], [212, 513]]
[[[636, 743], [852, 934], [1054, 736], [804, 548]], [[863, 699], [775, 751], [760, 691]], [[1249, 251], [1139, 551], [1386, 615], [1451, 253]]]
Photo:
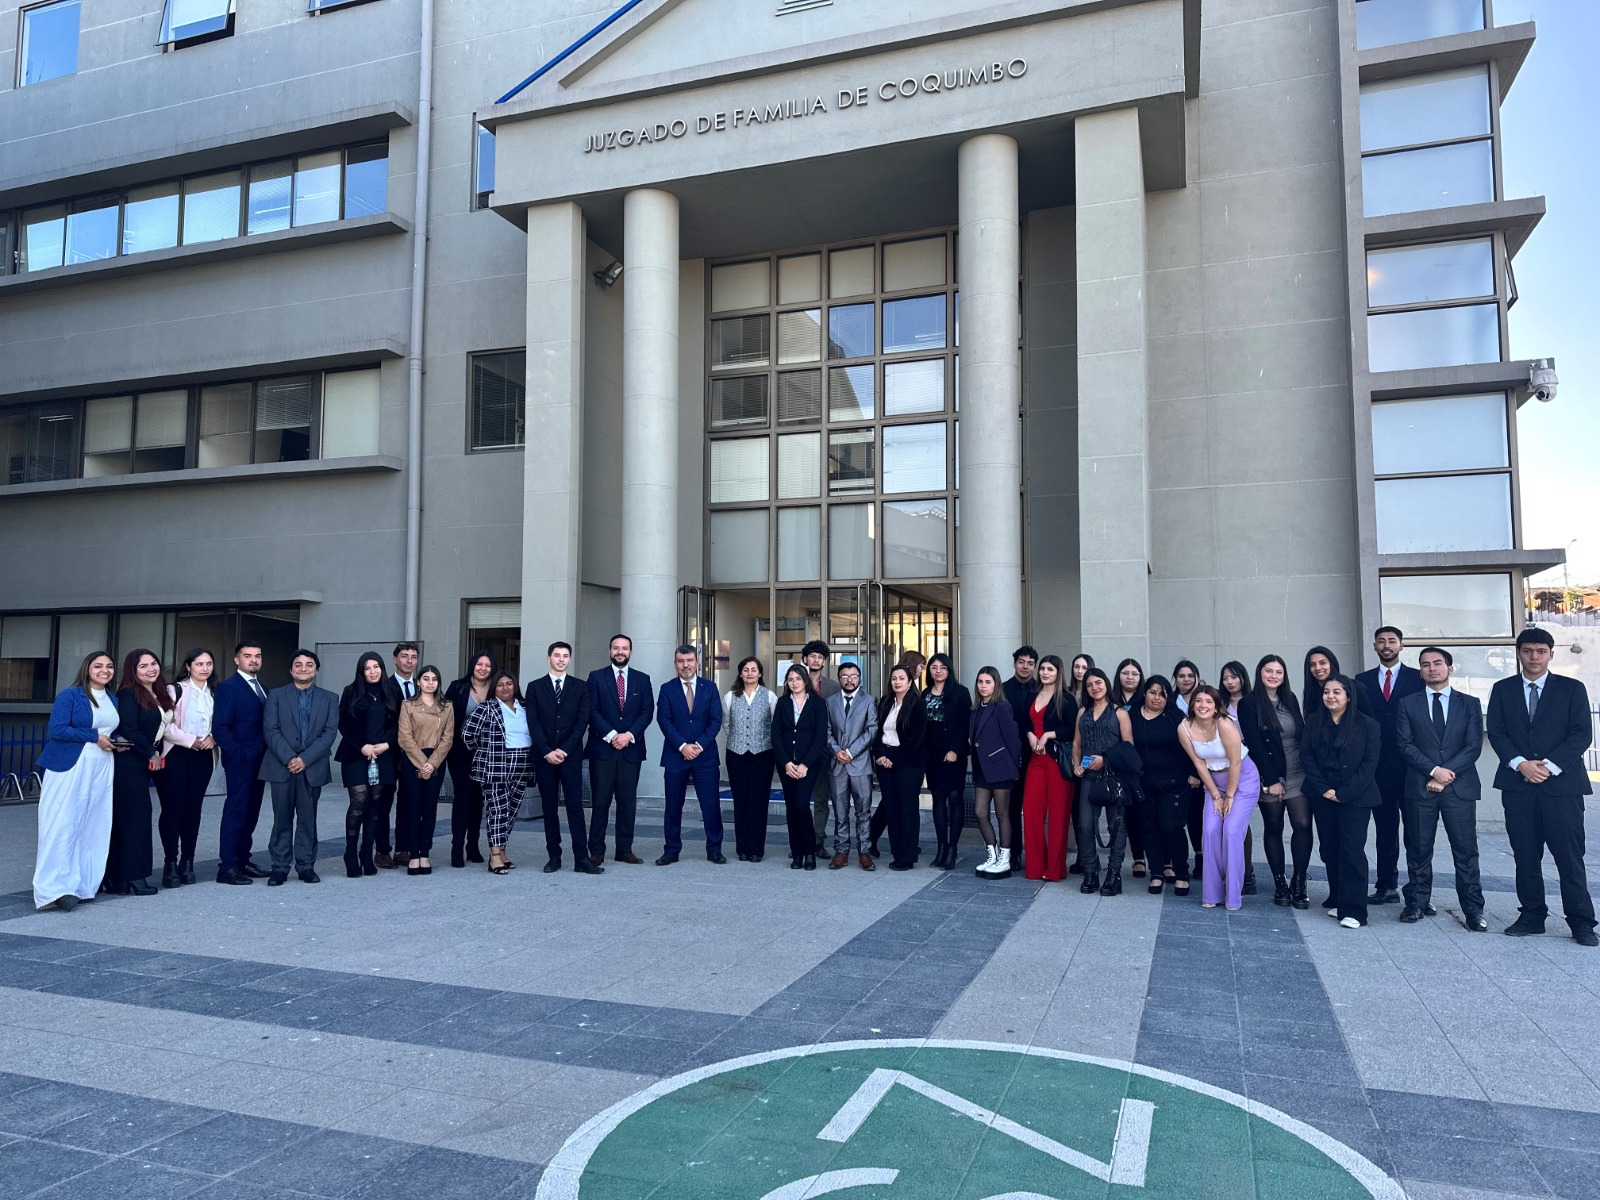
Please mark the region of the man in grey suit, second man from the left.
[[267, 754], [261, 778], [272, 784], [272, 874], [275, 888], [290, 877], [290, 862], [302, 883], [320, 883], [317, 874], [317, 800], [333, 779], [333, 739], [339, 736], [339, 698], [317, 686], [322, 659], [296, 650], [290, 680], [267, 694], [262, 734]]

